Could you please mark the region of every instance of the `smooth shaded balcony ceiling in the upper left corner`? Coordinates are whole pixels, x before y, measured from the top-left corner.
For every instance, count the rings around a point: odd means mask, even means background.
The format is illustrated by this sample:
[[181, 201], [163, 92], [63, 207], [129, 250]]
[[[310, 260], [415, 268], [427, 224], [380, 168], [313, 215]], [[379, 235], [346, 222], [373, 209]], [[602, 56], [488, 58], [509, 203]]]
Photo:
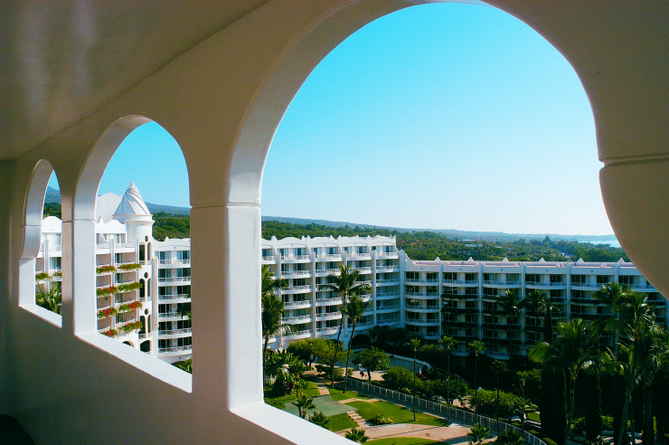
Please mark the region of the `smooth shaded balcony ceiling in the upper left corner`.
[[0, 160], [12, 159], [267, 0], [0, 4]]

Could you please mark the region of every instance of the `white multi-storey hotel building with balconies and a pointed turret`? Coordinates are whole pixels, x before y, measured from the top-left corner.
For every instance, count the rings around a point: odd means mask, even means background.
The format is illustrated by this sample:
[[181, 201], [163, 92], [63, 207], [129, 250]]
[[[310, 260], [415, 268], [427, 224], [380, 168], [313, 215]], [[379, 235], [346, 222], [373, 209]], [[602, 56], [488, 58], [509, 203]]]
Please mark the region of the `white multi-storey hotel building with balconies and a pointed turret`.
[[[142, 285], [97, 298], [99, 311], [118, 309], [111, 317], [99, 317], [99, 332], [108, 335], [114, 330], [119, 341], [169, 363], [188, 358], [192, 352], [191, 320], [182, 317], [179, 309], [190, 301], [190, 240], [155, 241], [152, 216], [134, 185], [123, 197], [100, 196], [98, 207], [97, 267], [115, 269], [99, 270], [98, 289], [118, 289], [118, 285], [132, 282]], [[43, 220], [36, 272], [53, 275], [60, 270], [60, 233], [60, 220]], [[122, 269], [133, 264], [138, 265], [137, 270]], [[554, 318], [593, 319], [609, 314], [610, 309], [594, 294], [613, 281], [647, 293], [657, 318], [669, 321], [667, 300], [634, 264], [623, 260], [414, 261], [398, 251], [394, 237], [375, 236], [263, 240], [262, 264], [287, 280], [287, 288], [278, 290], [286, 308], [283, 321], [297, 327], [293, 334], [271, 338], [273, 349], [301, 338], [336, 336], [342, 300], [333, 292], [320, 291], [319, 285], [327, 282], [328, 275], [338, 274], [340, 264], [360, 270], [360, 279], [372, 286], [371, 293], [362, 296], [371, 304], [356, 325], [356, 333], [364, 335], [375, 325], [388, 325], [405, 327], [428, 340], [454, 336], [459, 341], [455, 355], [466, 355], [467, 343], [482, 340], [487, 355], [508, 359], [512, 333], [514, 353], [520, 350], [524, 354], [541, 339], [542, 320], [536, 313], [524, 310], [512, 327], [498, 308], [495, 297], [508, 289], [517, 290], [521, 299], [532, 289], [546, 293], [557, 309]], [[137, 329], [123, 332], [122, 327], [137, 322], [141, 322]], [[344, 320], [345, 341], [348, 335], [350, 327]]]

